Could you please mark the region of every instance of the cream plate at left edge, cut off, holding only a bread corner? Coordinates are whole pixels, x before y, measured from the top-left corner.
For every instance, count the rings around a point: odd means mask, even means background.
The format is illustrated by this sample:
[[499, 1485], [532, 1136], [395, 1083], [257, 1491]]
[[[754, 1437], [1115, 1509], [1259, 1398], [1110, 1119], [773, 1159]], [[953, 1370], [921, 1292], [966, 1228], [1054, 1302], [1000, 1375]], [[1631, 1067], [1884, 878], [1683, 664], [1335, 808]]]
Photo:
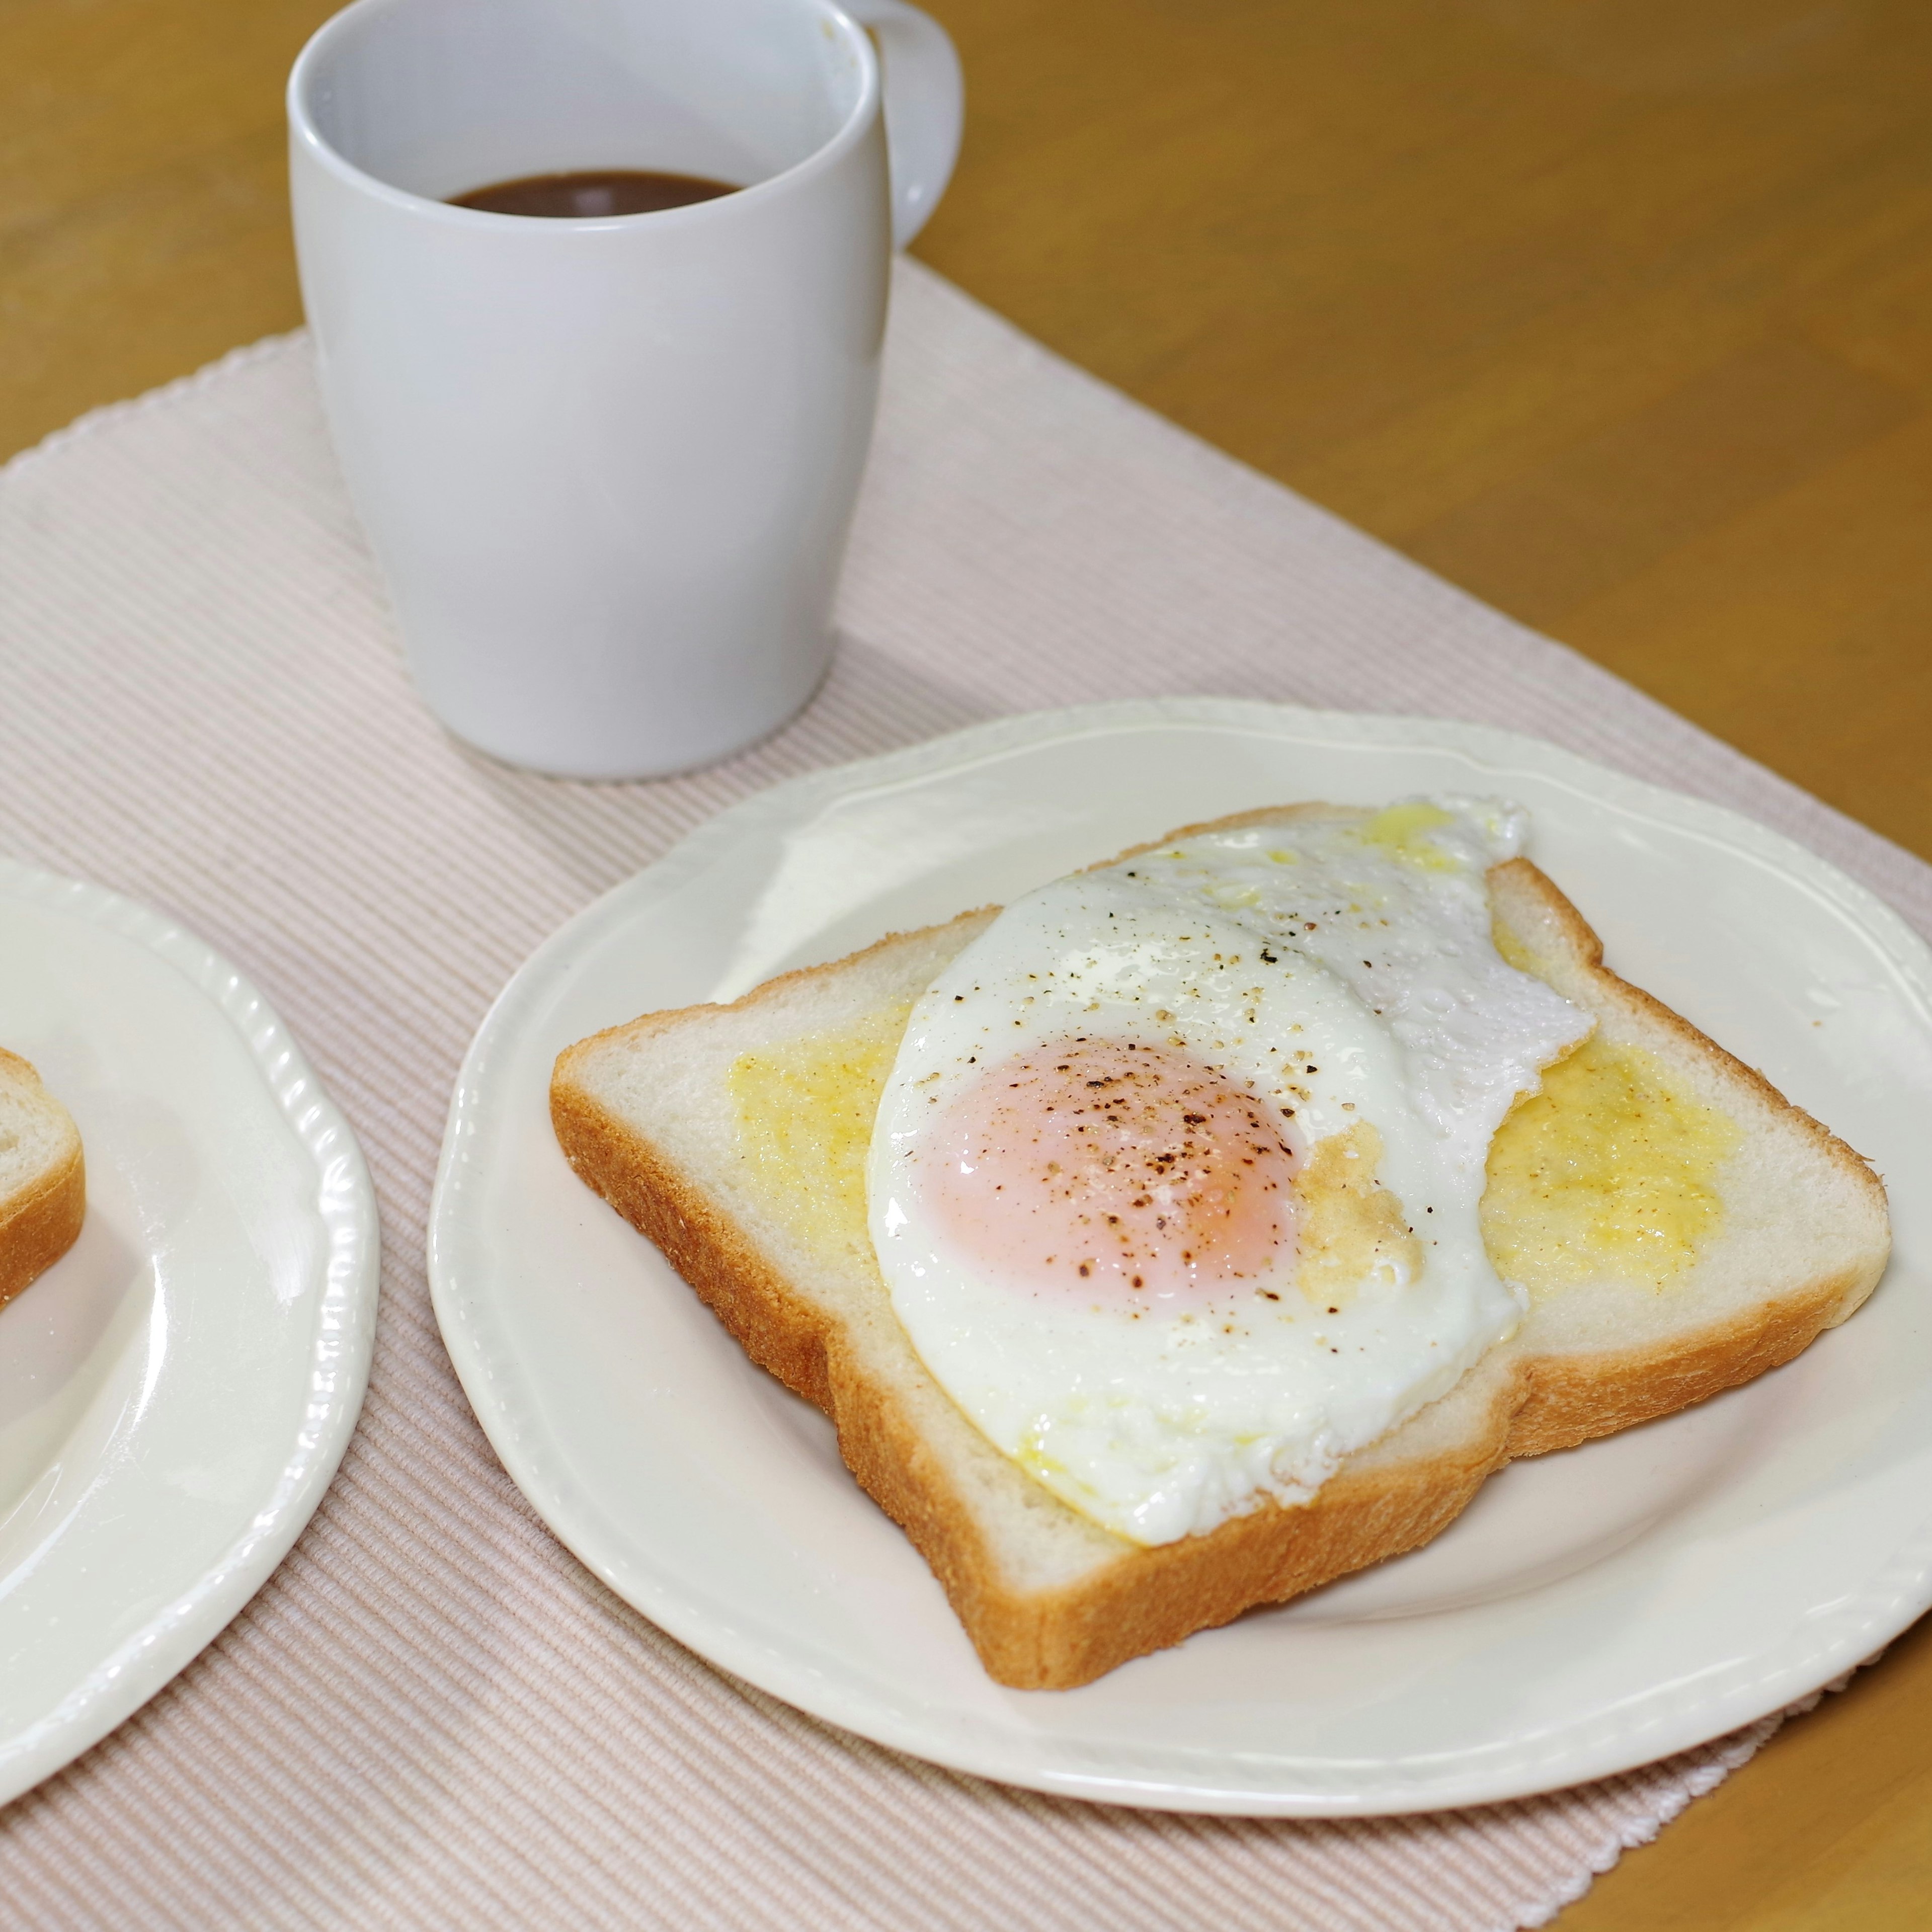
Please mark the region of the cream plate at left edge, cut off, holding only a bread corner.
[[0, 1310], [0, 1801], [261, 1588], [361, 1408], [377, 1219], [282, 1022], [160, 914], [0, 860], [0, 1045], [66, 1103], [79, 1240]]

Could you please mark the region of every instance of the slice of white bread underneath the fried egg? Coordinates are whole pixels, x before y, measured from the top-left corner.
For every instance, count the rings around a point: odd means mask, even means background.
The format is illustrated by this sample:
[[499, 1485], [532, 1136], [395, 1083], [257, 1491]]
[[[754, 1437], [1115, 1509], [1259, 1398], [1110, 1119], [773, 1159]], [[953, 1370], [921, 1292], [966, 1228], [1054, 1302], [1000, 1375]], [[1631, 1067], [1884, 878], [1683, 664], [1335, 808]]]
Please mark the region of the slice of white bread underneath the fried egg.
[[[1708, 1231], [1663, 1287], [1621, 1264], [1577, 1279], [1571, 1256], [1571, 1279], [1534, 1294], [1511, 1341], [1347, 1459], [1312, 1503], [1264, 1503], [1206, 1536], [1140, 1548], [1049, 1495], [933, 1381], [879, 1277], [864, 1213], [879, 1086], [912, 1001], [993, 912], [893, 935], [730, 1007], [645, 1014], [580, 1041], [556, 1063], [556, 1136], [746, 1352], [833, 1418], [852, 1472], [933, 1567], [985, 1669], [1020, 1689], [1068, 1689], [1414, 1549], [1503, 1463], [1747, 1381], [1876, 1285], [1889, 1229], [1870, 1167], [1604, 970], [1596, 935], [1534, 866], [1497, 866], [1490, 887], [1499, 945], [1596, 1016], [1600, 1051], [1636, 1049], [1636, 1065], [1667, 1074], [1679, 1111], [1735, 1122]], [[798, 1051], [817, 1072], [765, 1090], [782, 1119], [748, 1115], [757, 1088], [744, 1070]]]

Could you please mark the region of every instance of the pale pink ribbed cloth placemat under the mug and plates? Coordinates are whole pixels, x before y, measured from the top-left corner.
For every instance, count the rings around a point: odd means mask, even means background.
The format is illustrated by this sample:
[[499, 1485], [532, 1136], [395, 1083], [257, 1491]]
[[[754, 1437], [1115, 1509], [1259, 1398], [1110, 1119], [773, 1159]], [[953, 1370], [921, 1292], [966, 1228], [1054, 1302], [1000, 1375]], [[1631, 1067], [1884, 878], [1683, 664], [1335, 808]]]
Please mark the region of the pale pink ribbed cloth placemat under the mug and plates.
[[0, 850], [236, 958], [361, 1136], [361, 1428], [269, 1586], [0, 1818], [35, 1926], [1349, 1928], [1546, 1922], [1770, 1735], [1341, 1824], [1136, 1814], [898, 1758], [721, 1677], [529, 1513], [437, 1337], [458, 1059], [560, 920], [781, 777], [1007, 711], [1211, 692], [1480, 719], [1723, 800], [1932, 931], [1932, 869], [906, 265], [842, 649], [696, 777], [566, 784], [410, 694], [292, 336], [0, 479]]

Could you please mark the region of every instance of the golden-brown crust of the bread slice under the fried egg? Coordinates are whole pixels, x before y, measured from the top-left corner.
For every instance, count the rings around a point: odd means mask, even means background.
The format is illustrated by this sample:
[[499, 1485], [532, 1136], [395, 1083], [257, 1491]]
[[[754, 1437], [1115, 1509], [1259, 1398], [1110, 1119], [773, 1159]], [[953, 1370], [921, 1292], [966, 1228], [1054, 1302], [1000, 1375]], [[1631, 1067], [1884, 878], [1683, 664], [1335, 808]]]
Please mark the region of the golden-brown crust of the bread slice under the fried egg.
[[[1244, 813], [1217, 825], [1283, 815]], [[1204, 829], [1215, 827], [1188, 831]], [[1161, 844], [1173, 837], [1180, 835]], [[1731, 1074], [1752, 1082], [1770, 1105], [1801, 1121], [1833, 1165], [1870, 1188], [1882, 1208], [1884, 1190], [1857, 1153], [1687, 1020], [1609, 974], [1596, 933], [1534, 866], [1513, 860], [1492, 879], [1499, 898], [1544, 916], [1573, 970], [1596, 976], [1619, 1001], [1644, 1003], [1687, 1047], [1716, 1055]], [[738, 1005], [837, 974], [866, 956], [788, 974]], [[1884, 1269], [1880, 1248], [1797, 1294], [1652, 1349], [1534, 1356], [1511, 1354], [1511, 1345], [1503, 1345], [1470, 1372], [1484, 1378], [1486, 1401], [1447, 1447], [1405, 1455], [1405, 1437], [1416, 1428], [1408, 1424], [1374, 1451], [1350, 1457], [1306, 1505], [1264, 1503], [1206, 1536], [1151, 1549], [1122, 1542], [1117, 1559], [1072, 1586], [1022, 1590], [987, 1548], [954, 1472], [923, 1441], [902, 1391], [864, 1368], [837, 1323], [782, 1279], [692, 1177], [576, 1082], [574, 1068], [597, 1041], [634, 1028], [674, 1026], [697, 1010], [647, 1014], [560, 1055], [551, 1090], [558, 1142], [578, 1175], [665, 1250], [752, 1360], [831, 1416], [852, 1474], [931, 1565], [987, 1673], [1016, 1689], [1092, 1683], [1130, 1658], [1227, 1623], [1258, 1604], [1285, 1602], [1414, 1549], [1455, 1520], [1505, 1463], [1671, 1414], [1791, 1360], [1820, 1329], [1851, 1314]]]

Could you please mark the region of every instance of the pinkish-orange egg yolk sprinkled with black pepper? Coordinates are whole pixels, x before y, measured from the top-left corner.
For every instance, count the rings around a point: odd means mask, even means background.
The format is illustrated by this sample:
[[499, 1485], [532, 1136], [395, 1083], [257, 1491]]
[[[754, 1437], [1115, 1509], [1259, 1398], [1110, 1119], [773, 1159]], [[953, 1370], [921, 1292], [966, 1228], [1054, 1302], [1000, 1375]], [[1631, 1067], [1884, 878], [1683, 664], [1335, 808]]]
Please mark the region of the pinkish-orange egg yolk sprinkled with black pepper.
[[1296, 1161], [1289, 1122], [1213, 1066], [1066, 1039], [947, 1105], [920, 1192], [999, 1279], [1153, 1304], [1293, 1267]]

